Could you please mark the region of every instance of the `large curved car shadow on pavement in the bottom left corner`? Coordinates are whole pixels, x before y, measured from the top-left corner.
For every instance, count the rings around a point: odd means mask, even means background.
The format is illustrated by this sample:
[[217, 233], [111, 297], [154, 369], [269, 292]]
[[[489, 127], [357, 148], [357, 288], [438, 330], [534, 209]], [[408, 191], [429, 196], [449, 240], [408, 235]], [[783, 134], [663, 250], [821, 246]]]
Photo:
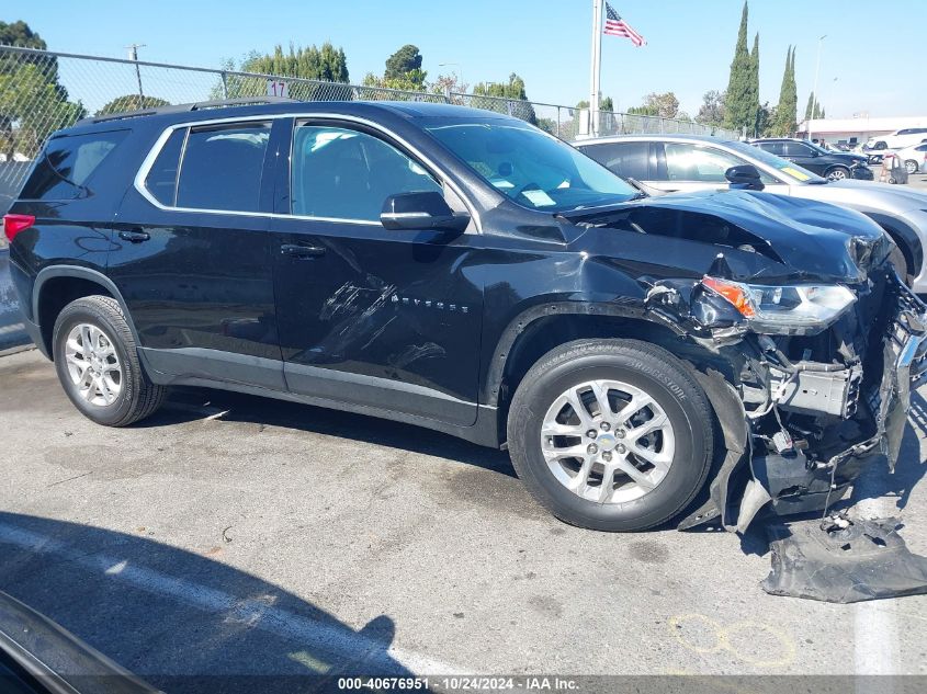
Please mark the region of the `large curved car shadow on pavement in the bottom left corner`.
[[0, 590], [166, 692], [334, 691], [344, 674], [412, 674], [388, 650], [388, 616], [355, 630], [137, 530], [0, 512]]

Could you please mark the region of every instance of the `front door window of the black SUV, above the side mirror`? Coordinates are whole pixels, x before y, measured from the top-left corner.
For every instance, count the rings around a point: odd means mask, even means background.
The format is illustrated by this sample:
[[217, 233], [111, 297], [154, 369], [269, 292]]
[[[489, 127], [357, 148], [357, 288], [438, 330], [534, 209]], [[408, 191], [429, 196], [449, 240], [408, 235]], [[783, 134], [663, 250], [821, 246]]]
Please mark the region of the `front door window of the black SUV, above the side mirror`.
[[406, 155], [366, 133], [297, 125], [290, 181], [294, 215], [378, 221], [383, 203], [398, 193], [442, 186]]

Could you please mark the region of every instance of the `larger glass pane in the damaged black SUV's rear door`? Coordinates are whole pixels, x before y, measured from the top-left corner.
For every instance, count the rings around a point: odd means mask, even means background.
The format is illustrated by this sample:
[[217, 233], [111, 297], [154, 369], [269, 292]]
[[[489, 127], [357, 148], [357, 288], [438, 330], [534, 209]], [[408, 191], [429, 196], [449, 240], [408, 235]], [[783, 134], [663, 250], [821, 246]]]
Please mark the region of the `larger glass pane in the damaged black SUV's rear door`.
[[180, 162], [177, 206], [258, 212], [269, 123], [191, 127]]

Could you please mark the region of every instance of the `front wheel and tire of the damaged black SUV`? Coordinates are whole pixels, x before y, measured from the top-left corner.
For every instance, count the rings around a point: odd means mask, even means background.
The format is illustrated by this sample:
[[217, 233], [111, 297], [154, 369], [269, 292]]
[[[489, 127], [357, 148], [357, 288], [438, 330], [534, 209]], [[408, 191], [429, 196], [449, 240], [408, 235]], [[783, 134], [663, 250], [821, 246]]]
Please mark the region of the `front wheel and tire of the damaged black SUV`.
[[[551, 419], [551, 412], [557, 411], [566, 392], [579, 392], [579, 397], [590, 402], [589, 406], [580, 403], [587, 408], [586, 414], [589, 416], [600, 402], [589, 395], [591, 391], [581, 391], [583, 384], [589, 383], [604, 384], [600, 386], [600, 392], [607, 392], [610, 412], [602, 417], [599, 407], [598, 419], [592, 414], [591, 420], [586, 422], [593, 422], [604, 433], [596, 431], [593, 439], [587, 435], [578, 441], [577, 436], [545, 434], [542, 437], [542, 428], [544, 432], [559, 432], [566, 428], [583, 430], [588, 425], [580, 421], [577, 410], [568, 402], [556, 419]], [[638, 414], [632, 412], [625, 424], [621, 423], [621, 418], [625, 416], [622, 408], [626, 411], [633, 406], [619, 400], [622, 388], [631, 397], [636, 397], [633, 391], [637, 390], [644, 394], [641, 397], [653, 399], [653, 405], [645, 406]], [[649, 414], [652, 422], [660, 421], [664, 419], [658, 416], [660, 411], [665, 416], [662, 426], [668, 425], [668, 429], [660, 429], [658, 433], [647, 434], [647, 439], [636, 439], [633, 443], [630, 436], [624, 439], [632, 424], [640, 424], [640, 420], [633, 421], [635, 418], [645, 419]], [[611, 430], [601, 425], [602, 419], [611, 419]], [[625, 425], [628, 431], [622, 429]], [[591, 430], [589, 433], [592, 433]], [[618, 443], [620, 439], [624, 439], [628, 446]], [[593, 441], [601, 448], [597, 454], [598, 464], [590, 464], [586, 457], [581, 460], [551, 462], [553, 452], [559, 453], [564, 448], [572, 447], [588, 454], [590, 448], [587, 444]], [[652, 447], [640, 445], [646, 442], [649, 446], [654, 441], [656, 443]], [[704, 391], [688, 367], [663, 348], [636, 340], [579, 340], [545, 354], [522, 379], [509, 410], [508, 447], [516, 473], [529, 492], [562, 521], [597, 531], [643, 531], [679, 514], [702, 489], [714, 452], [714, 425]], [[631, 452], [632, 447], [646, 451], [654, 460], [667, 456], [668, 466], [665, 462], [660, 463], [667, 469], [658, 469], [655, 465], [642, 473], [649, 463], [637, 458]], [[628, 451], [626, 457], [619, 457], [624, 453], [622, 448]], [[607, 452], [610, 452], [608, 464], [602, 460]], [[619, 469], [612, 473], [613, 476], [609, 477], [611, 483], [604, 488], [606, 470], [609, 468], [603, 466], [615, 465], [614, 460], [622, 466], [629, 462], [633, 464], [635, 478]], [[597, 465], [600, 469], [598, 477], [602, 480], [598, 487], [595, 486]], [[575, 476], [572, 476], [570, 468]], [[581, 482], [584, 469], [587, 470], [586, 483]], [[636, 478], [647, 478], [647, 485], [654, 485], [653, 480], [659, 476], [662, 479], [651, 488], [635, 481]], [[581, 491], [574, 491], [567, 485]]]

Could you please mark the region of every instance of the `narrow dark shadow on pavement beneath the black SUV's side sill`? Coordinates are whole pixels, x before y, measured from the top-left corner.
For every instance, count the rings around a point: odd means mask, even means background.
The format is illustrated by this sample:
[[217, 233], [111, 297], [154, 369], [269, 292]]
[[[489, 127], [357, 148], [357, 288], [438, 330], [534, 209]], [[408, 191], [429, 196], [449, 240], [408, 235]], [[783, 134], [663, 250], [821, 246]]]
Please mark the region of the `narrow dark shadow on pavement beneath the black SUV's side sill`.
[[478, 446], [450, 434], [376, 417], [224, 390], [177, 388], [161, 410], [133, 426], [170, 426], [219, 413], [226, 422], [248, 422], [347, 437], [448, 458], [516, 477], [507, 453]]

